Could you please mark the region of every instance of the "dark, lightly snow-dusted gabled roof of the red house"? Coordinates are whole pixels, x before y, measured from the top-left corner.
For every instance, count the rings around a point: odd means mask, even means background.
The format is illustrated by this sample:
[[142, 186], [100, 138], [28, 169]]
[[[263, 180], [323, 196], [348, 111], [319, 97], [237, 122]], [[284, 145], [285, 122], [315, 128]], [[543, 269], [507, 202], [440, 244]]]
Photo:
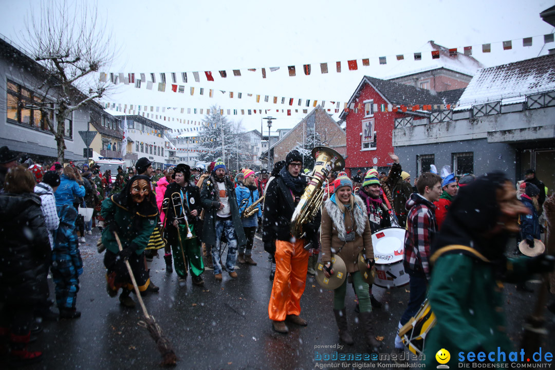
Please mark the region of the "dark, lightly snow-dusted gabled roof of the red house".
[[[415, 104], [445, 104], [440, 95], [431, 90], [365, 76], [362, 78], [359, 87], [356, 88], [355, 93], [349, 99], [349, 105], [359, 97], [365, 84], [369, 84], [374, 88], [388, 104], [407, 106]], [[345, 119], [346, 112], [342, 111], [339, 118]]]

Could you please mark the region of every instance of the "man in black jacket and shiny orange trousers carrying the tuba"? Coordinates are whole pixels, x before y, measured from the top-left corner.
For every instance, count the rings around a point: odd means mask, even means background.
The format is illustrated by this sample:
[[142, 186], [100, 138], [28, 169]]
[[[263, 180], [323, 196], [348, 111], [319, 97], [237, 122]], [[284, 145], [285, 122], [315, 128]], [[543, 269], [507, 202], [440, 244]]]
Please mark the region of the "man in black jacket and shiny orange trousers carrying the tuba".
[[274, 330], [287, 333], [285, 321], [305, 326], [301, 318], [301, 296], [305, 290], [309, 253], [305, 242], [316, 239], [320, 215], [304, 225], [306, 239], [295, 240], [291, 235], [291, 216], [306, 186], [306, 178], [300, 176], [302, 156], [297, 150], [290, 151], [279, 176], [266, 189], [263, 214], [264, 249], [275, 255], [276, 272], [274, 286], [268, 305], [268, 315]]

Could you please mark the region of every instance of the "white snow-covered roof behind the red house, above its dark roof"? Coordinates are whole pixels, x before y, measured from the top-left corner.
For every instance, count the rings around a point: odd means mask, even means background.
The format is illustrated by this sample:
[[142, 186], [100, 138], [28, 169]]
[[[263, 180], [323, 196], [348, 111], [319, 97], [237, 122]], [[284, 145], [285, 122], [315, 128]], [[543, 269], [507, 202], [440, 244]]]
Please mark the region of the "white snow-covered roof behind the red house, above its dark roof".
[[[393, 63], [393, 68], [389, 71], [390, 76], [385, 79], [392, 79], [401, 76], [411, 75], [415, 73], [425, 72], [427, 70], [445, 68], [455, 72], [473, 76], [484, 65], [476, 60], [472, 55], [465, 55], [464, 53], [456, 52], [450, 55], [449, 48], [436, 44], [435, 42], [428, 41], [422, 48], [421, 60], [413, 60], [413, 55], [406, 55], [406, 59], [402, 63]], [[440, 57], [433, 59], [431, 57], [432, 51], [440, 52]], [[412, 59], [412, 60], [411, 60]]]

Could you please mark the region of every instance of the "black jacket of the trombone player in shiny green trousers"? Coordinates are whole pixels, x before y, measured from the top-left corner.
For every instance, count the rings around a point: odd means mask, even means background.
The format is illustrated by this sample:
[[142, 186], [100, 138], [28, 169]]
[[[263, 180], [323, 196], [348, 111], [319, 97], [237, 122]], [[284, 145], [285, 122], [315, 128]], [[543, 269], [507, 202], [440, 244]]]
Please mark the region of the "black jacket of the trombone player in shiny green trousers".
[[[175, 220], [175, 211], [177, 211], [178, 214], [180, 214], [181, 212], [181, 204], [179, 202], [176, 202], [174, 211], [174, 204], [171, 194], [174, 194], [174, 192], [180, 193], [180, 191], [181, 186], [176, 183], [171, 183], [168, 185], [168, 187], [166, 187], [166, 191], [164, 192], [164, 199], [168, 198], [170, 200], [168, 210], [166, 211], [166, 228], [170, 233], [173, 233], [175, 231], [175, 227], [173, 226], [173, 221]], [[199, 188], [191, 185], [190, 183], [187, 183], [183, 195], [183, 204], [185, 205], [185, 215], [187, 216], [187, 220], [189, 224], [193, 224], [196, 236], [198, 236], [199, 239], [202, 240], [203, 222], [199, 219], [200, 212], [202, 211], [202, 204], [200, 202]], [[196, 212], [198, 212], [198, 216], [191, 216], [190, 211], [192, 210], [196, 210]], [[183, 219], [179, 220], [179, 223], [185, 225], [185, 221]]]

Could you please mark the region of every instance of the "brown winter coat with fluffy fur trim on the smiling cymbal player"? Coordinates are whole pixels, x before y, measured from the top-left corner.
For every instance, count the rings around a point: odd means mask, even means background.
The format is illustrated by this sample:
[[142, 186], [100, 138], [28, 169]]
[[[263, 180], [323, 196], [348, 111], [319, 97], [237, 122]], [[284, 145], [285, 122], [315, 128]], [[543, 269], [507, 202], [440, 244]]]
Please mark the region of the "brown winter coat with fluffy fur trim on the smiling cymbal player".
[[[331, 261], [331, 250], [345, 262], [347, 272], [359, 271], [357, 258], [362, 250], [369, 258], [374, 258], [374, 249], [372, 248], [372, 232], [370, 231], [370, 222], [366, 214], [366, 205], [358, 195], [355, 196], [354, 220], [351, 212], [346, 212], [345, 217], [339, 211], [339, 207], [335, 204], [335, 197], [326, 200], [322, 208], [321, 236], [322, 245], [322, 262]], [[339, 200], [337, 200], [339, 201]], [[344, 221], [345, 220], [345, 221]], [[345, 239], [345, 231], [354, 227], [355, 240], [342, 241]]]

